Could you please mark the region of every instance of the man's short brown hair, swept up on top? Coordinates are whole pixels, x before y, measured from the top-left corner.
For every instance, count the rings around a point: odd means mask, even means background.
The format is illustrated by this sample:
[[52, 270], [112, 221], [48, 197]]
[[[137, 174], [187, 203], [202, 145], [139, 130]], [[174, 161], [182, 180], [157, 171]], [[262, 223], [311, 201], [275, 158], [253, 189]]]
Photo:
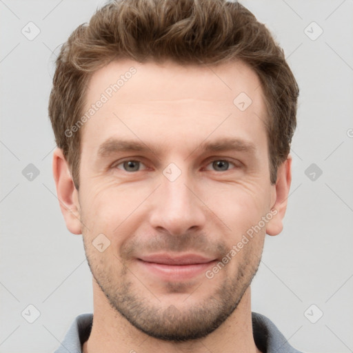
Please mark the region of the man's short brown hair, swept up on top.
[[238, 2], [225, 0], [116, 0], [79, 26], [56, 61], [49, 116], [55, 140], [79, 187], [79, 121], [92, 73], [119, 58], [143, 62], [219, 64], [239, 59], [258, 75], [268, 119], [270, 181], [290, 152], [299, 88], [269, 30]]

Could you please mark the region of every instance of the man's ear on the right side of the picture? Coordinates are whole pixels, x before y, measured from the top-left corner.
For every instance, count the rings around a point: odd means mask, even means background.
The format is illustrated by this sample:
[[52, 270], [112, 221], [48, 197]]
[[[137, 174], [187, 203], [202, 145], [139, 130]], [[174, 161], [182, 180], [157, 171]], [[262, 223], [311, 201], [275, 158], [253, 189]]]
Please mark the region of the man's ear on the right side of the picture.
[[292, 182], [292, 156], [289, 154], [287, 159], [277, 169], [277, 179], [272, 190], [272, 209], [273, 218], [268, 222], [266, 233], [277, 235], [283, 230], [283, 217], [287, 210], [290, 183]]

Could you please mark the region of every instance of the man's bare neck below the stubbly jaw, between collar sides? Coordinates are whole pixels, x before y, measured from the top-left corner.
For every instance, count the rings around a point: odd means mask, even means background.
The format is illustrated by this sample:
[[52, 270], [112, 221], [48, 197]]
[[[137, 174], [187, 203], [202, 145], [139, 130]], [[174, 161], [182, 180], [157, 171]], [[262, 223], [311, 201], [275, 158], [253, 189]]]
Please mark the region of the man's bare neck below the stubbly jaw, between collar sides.
[[250, 287], [228, 319], [214, 332], [187, 342], [162, 341], [148, 336], [112, 309], [95, 281], [93, 282], [94, 316], [92, 331], [83, 344], [83, 353], [201, 353], [249, 352], [261, 353], [252, 335]]

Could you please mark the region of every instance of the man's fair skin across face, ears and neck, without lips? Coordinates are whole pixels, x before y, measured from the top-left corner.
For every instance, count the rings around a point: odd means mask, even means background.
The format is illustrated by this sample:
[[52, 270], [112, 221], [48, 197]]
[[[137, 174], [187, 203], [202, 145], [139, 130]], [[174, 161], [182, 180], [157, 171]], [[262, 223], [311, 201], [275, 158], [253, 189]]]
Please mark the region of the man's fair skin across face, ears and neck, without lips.
[[[54, 152], [61, 210], [68, 230], [83, 234], [93, 274], [94, 321], [83, 352], [259, 352], [250, 282], [265, 234], [282, 230], [291, 182], [289, 156], [270, 183], [259, 79], [240, 61], [113, 61], [92, 75], [87, 110], [132, 66], [136, 73], [81, 128], [79, 191], [61, 150]], [[241, 92], [252, 100], [244, 111], [233, 103]], [[146, 150], [114, 150], [113, 139]], [[237, 148], [202, 149], [227, 139]], [[212, 279], [205, 276], [259, 224]], [[99, 234], [110, 242], [103, 252], [93, 245]], [[190, 278], [177, 270], [160, 276], [140, 258], [161, 253], [214, 262]]]

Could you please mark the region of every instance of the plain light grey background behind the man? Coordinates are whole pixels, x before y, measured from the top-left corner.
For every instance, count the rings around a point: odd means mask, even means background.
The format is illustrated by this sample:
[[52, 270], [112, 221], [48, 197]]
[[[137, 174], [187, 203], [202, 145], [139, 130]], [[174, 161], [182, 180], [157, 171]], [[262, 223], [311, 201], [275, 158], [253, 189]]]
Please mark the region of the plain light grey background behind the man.
[[[252, 307], [299, 350], [353, 352], [353, 1], [241, 2], [272, 30], [301, 88], [285, 228], [266, 239]], [[65, 228], [55, 193], [47, 107], [52, 51], [102, 3], [0, 0], [1, 353], [52, 352], [92, 312], [81, 236]], [[32, 41], [21, 33], [35, 33], [30, 21], [41, 31]], [[314, 181], [312, 163], [323, 172]], [[21, 314], [30, 304], [34, 323]]]

